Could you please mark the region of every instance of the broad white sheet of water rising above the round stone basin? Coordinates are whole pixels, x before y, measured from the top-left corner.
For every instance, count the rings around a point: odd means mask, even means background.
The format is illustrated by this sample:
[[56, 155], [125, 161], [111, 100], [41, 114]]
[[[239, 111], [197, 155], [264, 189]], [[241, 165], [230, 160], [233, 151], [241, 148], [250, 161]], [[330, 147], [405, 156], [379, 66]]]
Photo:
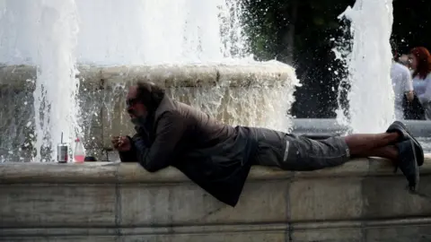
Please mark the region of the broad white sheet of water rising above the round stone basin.
[[81, 22], [78, 61], [154, 65], [242, 57], [238, 2], [76, 0]]

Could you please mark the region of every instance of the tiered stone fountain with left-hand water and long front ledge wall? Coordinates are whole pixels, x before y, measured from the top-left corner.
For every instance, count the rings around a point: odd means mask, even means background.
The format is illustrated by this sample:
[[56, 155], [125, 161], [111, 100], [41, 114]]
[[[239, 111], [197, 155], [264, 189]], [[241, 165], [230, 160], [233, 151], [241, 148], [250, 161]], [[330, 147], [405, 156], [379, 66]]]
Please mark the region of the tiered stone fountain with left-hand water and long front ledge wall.
[[[0, 27], [8, 27], [0, 28], [0, 63], [6, 63], [0, 67], [0, 98], [8, 104], [0, 109], [0, 134], [7, 137], [0, 140], [0, 147], [5, 148], [2, 154], [7, 161], [20, 161], [26, 152], [34, 155], [28, 146], [42, 143], [34, 143], [34, 134], [51, 133], [48, 140], [55, 142], [53, 133], [58, 130], [49, 124], [53, 119], [65, 120], [62, 118], [77, 110], [61, 112], [61, 117], [54, 110], [77, 106], [81, 118], [76, 123], [83, 130], [74, 130], [75, 121], [67, 123], [69, 135], [83, 132], [89, 150], [107, 148], [110, 134], [130, 132], [122, 112], [123, 96], [125, 88], [138, 80], [162, 84], [172, 97], [227, 123], [290, 127], [284, 112], [293, 101], [294, 70], [277, 62], [235, 61], [242, 56], [242, 38], [235, 35], [241, 30], [230, 28], [238, 23], [234, 11], [227, 11], [237, 6], [234, 1], [123, 2], [22, 0], [18, 4], [0, 0], [0, 9], [7, 7], [0, 12]], [[362, 2], [376, 4], [375, 0]], [[365, 13], [357, 14], [362, 19]], [[121, 22], [123, 18], [127, 22]], [[80, 29], [77, 33], [75, 24]], [[57, 31], [62, 34], [48, 38], [48, 33]], [[56, 45], [48, 46], [47, 39], [57, 40]], [[65, 42], [60, 45], [60, 40]], [[7, 45], [17, 48], [4, 48]], [[45, 54], [52, 54], [51, 58], [45, 59]], [[385, 78], [381, 79], [383, 86]], [[70, 81], [69, 89], [60, 91], [56, 79]], [[51, 103], [54, 109], [48, 108], [54, 111], [48, 112], [51, 123], [40, 116], [37, 121], [42, 123], [37, 126], [31, 120], [34, 110], [46, 108], [39, 99], [44, 92], [50, 92], [45, 96], [48, 100], [61, 99]], [[34, 107], [37, 102], [40, 106]], [[73, 103], [76, 106], [67, 106]], [[431, 191], [431, 163], [427, 161], [421, 170], [421, 189]], [[316, 172], [258, 167], [251, 170], [240, 203], [232, 208], [172, 168], [148, 173], [136, 163], [4, 162], [0, 164], [0, 240], [430, 238], [426, 217], [430, 203], [403, 191], [404, 185], [404, 177], [393, 175], [389, 162], [373, 158]]]

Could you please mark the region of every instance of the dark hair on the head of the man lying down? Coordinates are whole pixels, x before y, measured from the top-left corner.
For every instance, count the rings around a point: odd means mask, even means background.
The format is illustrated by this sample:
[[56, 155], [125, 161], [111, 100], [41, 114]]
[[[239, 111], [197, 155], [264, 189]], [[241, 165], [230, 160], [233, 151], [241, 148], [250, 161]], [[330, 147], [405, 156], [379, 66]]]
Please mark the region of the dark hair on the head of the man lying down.
[[153, 82], [137, 82], [136, 99], [145, 105], [148, 112], [152, 113], [157, 109], [164, 97], [164, 89]]

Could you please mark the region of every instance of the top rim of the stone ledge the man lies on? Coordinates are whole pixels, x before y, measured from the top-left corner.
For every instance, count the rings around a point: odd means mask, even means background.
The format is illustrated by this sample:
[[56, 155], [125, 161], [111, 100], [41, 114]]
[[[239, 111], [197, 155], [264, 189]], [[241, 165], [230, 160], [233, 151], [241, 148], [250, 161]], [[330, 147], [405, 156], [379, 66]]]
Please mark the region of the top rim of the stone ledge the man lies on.
[[[420, 167], [421, 175], [431, 174], [431, 154]], [[278, 180], [313, 177], [381, 177], [402, 176], [393, 173], [389, 160], [356, 159], [331, 168], [306, 172], [253, 167], [248, 180]], [[149, 173], [137, 163], [87, 162], [84, 164], [22, 163], [0, 164], [0, 184], [13, 183], [180, 183], [189, 178], [174, 168]]]

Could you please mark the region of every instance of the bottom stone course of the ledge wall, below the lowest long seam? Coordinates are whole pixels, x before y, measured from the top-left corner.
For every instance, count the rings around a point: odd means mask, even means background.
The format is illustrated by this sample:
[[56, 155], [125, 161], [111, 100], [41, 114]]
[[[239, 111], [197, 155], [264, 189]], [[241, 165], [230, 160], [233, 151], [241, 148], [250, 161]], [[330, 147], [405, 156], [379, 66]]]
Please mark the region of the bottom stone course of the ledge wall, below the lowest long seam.
[[[431, 238], [431, 218], [405, 218], [396, 220], [343, 220], [322, 222], [294, 222], [268, 224], [197, 225], [138, 228], [28, 228], [1, 229], [0, 241], [56, 238], [55, 241], [136, 241], [134, 238], [159, 241], [157, 238], [174, 238], [173, 241], [236, 241], [220, 238], [239, 238], [240, 241], [397, 241]], [[389, 231], [388, 231], [389, 230]], [[388, 233], [390, 232], [391, 233]], [[100, 240], [98, 239], [100, 238]], [[218, 238], [218, 239], [217, 239]], [[262, 238], [270, 238], [262, 240]], [[302, 239], [301, 239], [302, 238]], [[313, 239], [312, 239], [313, 238]], [[327, 238], [330, 240], [320, 240]], [[7, 239], [7, 240], [2, 240]], [[82, 240], [84, 239], [84, 240]], [[87, 240], [88, 239], [88, 240]], [[276, 240], [274, 240], [276, 239]], [[312, 239], [312, 240], [310, 240]], [[318, 240], [314, 240], [318, 239]], [[353, 240], [352, 240], [353, 239]], [[358, 239], [358, 240], [356, 240]], [[409, 240], [411, 239], [411, 240]], [[52, 241], [52, 240], [49, 240]], [[142, 241], [142, 240], [139, 240]], [[169, 240], [171, 241], [171, 240]], [[290, 241], [290, 240], [289, 240]]]

